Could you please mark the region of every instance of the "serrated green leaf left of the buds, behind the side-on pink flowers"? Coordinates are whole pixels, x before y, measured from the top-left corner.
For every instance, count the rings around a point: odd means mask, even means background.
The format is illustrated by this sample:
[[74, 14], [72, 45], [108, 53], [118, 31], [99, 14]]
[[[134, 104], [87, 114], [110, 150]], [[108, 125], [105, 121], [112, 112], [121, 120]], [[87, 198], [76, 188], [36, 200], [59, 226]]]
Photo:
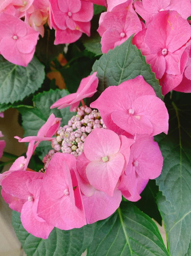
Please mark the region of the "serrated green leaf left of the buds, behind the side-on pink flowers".
[[[58, 99], [68, 95], [66, 90], [50, 90], [39, 93], [33, 97], [34, 108], [19, 108], [19, 112], [22, 114], [22, 126], [24, 129], [24, 136], [36, 136], [40, 127], [46, 123], [49, 116], [54, 113], [56, 117], [62, 117], [61, 125], [68, 124], [68, 121], [73, 116], [69, 107], [63, 109], [50, 109], [50, 106]], [[40, 159], [51, 150], [51, 142], [42, 141], [39, 147], [36, 148], [36, 152]]]

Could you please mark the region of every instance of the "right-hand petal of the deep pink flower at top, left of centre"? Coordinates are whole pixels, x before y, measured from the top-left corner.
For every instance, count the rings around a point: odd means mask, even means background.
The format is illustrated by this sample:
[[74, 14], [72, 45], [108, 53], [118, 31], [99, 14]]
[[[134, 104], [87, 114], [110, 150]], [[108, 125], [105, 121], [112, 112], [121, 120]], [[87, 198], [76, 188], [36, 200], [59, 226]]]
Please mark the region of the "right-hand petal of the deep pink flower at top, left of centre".
[[72, 19], [76, 21], [87, 22], [87, 21], [90, 21], [92, 18], [93, 18], [93, 4], [81, 0], [81, 9], [72, 15]]

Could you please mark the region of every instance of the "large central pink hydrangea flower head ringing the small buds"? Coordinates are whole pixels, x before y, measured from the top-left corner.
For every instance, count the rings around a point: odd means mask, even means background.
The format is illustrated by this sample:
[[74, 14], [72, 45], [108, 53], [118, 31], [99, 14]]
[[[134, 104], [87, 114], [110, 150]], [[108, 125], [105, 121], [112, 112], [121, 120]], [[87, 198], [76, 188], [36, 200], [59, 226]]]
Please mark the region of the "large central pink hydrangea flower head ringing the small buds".
[[[69, 230], [105, 219], [119, 207], [122, 195], [130, 201], [139, 200], [148, 180], [161, 173], [163, 158], [153, 135], [168, 132], [169, 116], [163, 101], [138, 76], [105, 89], [90, 105], [99, 112], [86, 106], [78, 108], [87, 91], [88, 95], [96, 91], [95, 81], [92, 74], [83, 79], [78, 92], [69, 95], [70, 99], [65, 96], [54, 104], [71, 105], [72, 110], [78, 111], [67, 127], [61, 127], [60, 118], [52, 114], [37, 136], [16, 137], [20, 142], [29, 142], [27, 159], [18, 158], [0, 176], [4, 200], [11, 209], [21, 212], [23, 227], [34, 236], [46, 239], [53, 227]], [[98, 126], [82, 126], [76, 117], [83, 117], [83, 124], [90, 124], [92, 119]], [[86, 127], [91, 127], [91, 131], [86, 131]], [[80, 129], [80, 136], [71, 135], [70, 128]], [[85, 129], [83, 138], [81, 128]], [[67, 129], [70, 141], [77, 143], [80, 138], [83, 142], [81, 153], [77, 156], [77, 149], [74, 154], [56, 152], [54, 147], [44, 159], [46, 171], [28, 169], [29, 159], [40, 141], [65, 141], [61, 136]], [[54, 134], [58, 136], [52, 138]]]

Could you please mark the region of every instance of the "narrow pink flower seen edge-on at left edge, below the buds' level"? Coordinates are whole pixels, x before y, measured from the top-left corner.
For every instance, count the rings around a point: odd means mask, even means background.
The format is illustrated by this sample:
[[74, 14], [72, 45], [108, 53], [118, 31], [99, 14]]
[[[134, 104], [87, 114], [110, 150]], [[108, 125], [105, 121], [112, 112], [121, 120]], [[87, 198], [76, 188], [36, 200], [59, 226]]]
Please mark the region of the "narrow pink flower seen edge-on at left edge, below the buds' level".
[[29, 145], [28, 145], [28, 150], [27, 150], [27, 158], [19, 157], [17, 158], [13, 164], [11, 165], [11, 167], [9, 168], [8, 171], [5, 171], [4, 173], [0, 174], [0, 185], [2, 183], [2, 180], [7, 177], [10, 173], [12, 173], [13, 171], [18, 171], [18, 170], [27, 170], [29, 161], [32, 157], [32, 154], [34, 153], [34, 141], [30, 141]]

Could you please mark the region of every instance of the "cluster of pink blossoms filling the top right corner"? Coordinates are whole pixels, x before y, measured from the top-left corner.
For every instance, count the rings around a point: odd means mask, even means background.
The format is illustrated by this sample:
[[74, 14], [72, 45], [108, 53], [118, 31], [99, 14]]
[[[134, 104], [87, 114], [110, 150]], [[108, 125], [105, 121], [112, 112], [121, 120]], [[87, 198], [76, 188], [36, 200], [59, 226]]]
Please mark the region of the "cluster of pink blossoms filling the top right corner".
[[107, 12], [101, 14], [98, 28], [102, 52], [122, 44], [135, 33], [133, 44], [151, 65], [163, 95], [171, 90], [191, 92], [191, 27], [186, 20], [191, 15], [190, 0], [107, 2]]

